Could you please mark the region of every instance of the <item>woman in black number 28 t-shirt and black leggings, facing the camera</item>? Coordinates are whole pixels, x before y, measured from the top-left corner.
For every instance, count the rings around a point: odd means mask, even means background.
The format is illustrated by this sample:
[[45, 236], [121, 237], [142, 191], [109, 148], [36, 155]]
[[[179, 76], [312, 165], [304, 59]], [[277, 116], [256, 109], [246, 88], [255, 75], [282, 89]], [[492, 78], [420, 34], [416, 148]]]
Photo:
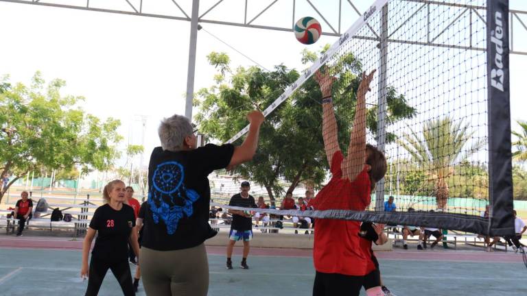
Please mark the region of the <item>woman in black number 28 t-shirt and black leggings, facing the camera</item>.
[[[86, 296], [99, 293], [108, 269], [111, 269], [117, 278], [124, 295], [135, 295], [130, 265], [128, 265], [128, 243], [132, 245], [137, 256], [139, 256], [139, 244], [137, 232], [132, 231], [135, 226], [134, 209], [124, 204], [125, 188], [121, 180], [113, 180], [104, 186], [103, 197], [106, 204], [95, 210], [84, 237], [80, 275], [89, 277]], [[95, 232], [99, 234], [88, 265], [88, 254]]]

